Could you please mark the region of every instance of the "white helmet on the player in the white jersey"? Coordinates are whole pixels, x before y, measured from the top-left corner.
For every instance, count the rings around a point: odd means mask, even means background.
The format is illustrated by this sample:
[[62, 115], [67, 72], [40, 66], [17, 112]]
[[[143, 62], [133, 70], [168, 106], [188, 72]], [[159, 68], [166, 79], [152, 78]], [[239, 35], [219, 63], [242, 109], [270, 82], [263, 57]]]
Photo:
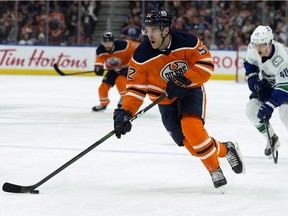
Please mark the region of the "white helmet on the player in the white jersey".
[[252, 44], [269, 44], [273, 41], [273, 32], [269, 26], [259, 25], [252, 33], [250, 42]]

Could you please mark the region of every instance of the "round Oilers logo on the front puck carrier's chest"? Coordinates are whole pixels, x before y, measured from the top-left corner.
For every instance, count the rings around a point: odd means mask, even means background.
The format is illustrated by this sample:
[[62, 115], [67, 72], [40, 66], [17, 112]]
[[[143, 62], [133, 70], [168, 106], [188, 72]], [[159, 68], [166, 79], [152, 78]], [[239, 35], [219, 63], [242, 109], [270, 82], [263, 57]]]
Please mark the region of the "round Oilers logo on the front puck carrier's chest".
[[168, 81], [172, 76], [184, 74], [188, 70], [188, 64], [185, 61], [174, 61], [167, 64], [161, 71], [161, 77]]

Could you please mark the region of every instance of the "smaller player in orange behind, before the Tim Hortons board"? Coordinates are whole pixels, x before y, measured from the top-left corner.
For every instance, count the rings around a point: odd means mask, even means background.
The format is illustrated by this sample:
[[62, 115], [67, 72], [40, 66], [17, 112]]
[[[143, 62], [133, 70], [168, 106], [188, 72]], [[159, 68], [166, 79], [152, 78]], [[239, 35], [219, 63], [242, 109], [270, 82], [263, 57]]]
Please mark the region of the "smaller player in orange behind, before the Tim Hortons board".
[[130, 40], [114, 41], [112, 32], [105, 32], [103, 34], [102, 44], [96, 50], [94, 70], [96, 75], [99, 76], [104, 74], [104, 67], [108, 69], [108, 72], [98, 88], [100, 105], [92, 107], [93, 111], [97, 112], [106, 109], [110, 103], [108, 92], [115, 84], [120, 94], [118, 107], [122, 106], [126, 89], [128, 63], [138, 45], [138, 42]]

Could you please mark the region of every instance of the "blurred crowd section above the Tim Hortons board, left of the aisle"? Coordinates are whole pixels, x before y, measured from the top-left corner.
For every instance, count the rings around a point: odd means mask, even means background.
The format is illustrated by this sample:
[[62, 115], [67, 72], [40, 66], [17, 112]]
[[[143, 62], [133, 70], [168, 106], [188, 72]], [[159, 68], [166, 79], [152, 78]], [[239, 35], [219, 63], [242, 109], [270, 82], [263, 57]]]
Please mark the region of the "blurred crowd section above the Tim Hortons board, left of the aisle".
[[49, 45], [65, 46], [77, 40], [91, 44], [101, 2], [50, 1], [49, 8], [47, 1], [1, 1], [0, 5], [1, 44], [45, 45], [49, 37]]

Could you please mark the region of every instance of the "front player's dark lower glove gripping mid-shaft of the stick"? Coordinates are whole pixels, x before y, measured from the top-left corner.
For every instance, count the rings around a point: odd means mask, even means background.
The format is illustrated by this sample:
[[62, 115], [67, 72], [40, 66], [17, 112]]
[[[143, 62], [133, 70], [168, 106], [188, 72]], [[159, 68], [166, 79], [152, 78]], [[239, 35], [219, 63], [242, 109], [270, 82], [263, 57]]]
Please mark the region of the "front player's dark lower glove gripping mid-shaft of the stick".
[[131, 131], [132, 124], [129, 121], [131, 114], [124, 109], [115, 109], [113, 113], [114, 129], [118, 139], [121, 138], [121, 134], [125, 135]]

